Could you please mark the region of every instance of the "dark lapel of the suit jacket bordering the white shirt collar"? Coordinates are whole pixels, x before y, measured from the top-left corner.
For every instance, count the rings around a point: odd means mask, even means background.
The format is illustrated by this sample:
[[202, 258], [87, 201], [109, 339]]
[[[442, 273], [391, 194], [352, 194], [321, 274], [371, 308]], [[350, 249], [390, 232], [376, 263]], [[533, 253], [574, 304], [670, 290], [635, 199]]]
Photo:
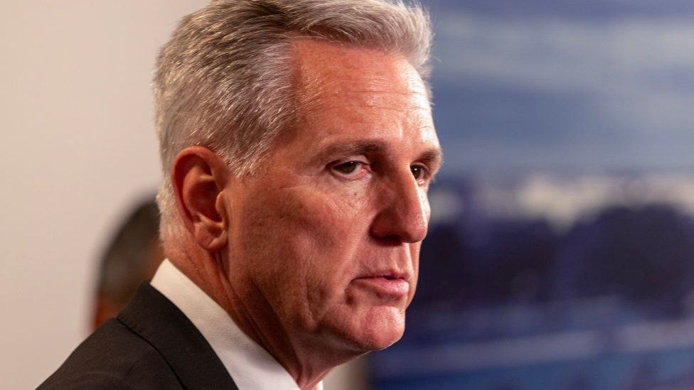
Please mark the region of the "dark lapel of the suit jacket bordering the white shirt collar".
[[138, 288], [118, 320], [159, 351], [186, 388], [237, 389], [201, 332], [149, 283]]

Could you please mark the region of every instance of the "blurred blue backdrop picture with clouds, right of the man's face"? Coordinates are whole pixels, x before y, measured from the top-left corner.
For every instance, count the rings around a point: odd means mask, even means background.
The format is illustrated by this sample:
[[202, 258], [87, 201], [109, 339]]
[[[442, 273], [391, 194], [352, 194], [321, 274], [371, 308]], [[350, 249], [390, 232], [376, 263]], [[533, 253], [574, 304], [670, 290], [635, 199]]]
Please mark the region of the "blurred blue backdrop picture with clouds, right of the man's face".
[[373, 388], [694, 388], [694, 3], [425, 5], [445, 163]]

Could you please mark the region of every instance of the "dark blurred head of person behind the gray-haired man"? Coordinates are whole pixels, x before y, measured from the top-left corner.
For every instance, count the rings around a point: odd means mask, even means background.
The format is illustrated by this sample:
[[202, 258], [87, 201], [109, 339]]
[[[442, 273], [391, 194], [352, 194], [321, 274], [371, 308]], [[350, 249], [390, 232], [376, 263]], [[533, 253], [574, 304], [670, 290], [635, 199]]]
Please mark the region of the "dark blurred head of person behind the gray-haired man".
[[120, 224], [100, 260], [93, 328], [124, 308], [137, 286], [154, 276], [162, 260], [159, 208], [150, 199]]

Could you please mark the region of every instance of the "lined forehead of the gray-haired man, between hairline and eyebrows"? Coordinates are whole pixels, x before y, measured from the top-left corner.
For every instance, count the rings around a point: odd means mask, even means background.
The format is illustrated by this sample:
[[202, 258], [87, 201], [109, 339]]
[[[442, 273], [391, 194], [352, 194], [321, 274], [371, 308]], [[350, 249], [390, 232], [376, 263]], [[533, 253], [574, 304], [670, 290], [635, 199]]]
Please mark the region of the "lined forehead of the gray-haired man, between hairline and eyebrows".
[[425, 84], [401, 55], [315, 39], [292, 50], [304, 131], [321, 141], [404, 137], [438, 146]]

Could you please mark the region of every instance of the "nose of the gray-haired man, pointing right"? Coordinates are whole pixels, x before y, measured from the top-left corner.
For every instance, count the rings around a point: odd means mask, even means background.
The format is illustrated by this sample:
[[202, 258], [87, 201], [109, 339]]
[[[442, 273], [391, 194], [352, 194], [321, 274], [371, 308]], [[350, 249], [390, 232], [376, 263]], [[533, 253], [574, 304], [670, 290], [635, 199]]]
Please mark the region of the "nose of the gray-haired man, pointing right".
[[420, 242], [427, 236], [429, 200], [411, 173], [384, 183], [371, 233], [379, 239]]

